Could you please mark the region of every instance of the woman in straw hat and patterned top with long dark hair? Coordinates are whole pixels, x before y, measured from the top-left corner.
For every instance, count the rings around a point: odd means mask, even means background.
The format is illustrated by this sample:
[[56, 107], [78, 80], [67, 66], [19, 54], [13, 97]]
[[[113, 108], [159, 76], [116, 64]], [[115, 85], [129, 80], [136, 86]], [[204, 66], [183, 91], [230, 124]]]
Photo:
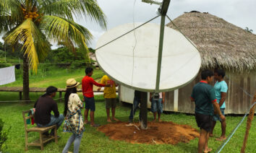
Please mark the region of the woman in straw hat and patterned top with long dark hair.
[[63, 153], [67, 153], [70, 145], [74, 142], [74, 153], [79, 152], [82, 134], [85, 131], [82, 120], [83, 103], [77, 95], [77, 86], [80, 82], [75, 79], [67, 79], [67, 90], [64, 97], [64, 132], [71, 132]]

